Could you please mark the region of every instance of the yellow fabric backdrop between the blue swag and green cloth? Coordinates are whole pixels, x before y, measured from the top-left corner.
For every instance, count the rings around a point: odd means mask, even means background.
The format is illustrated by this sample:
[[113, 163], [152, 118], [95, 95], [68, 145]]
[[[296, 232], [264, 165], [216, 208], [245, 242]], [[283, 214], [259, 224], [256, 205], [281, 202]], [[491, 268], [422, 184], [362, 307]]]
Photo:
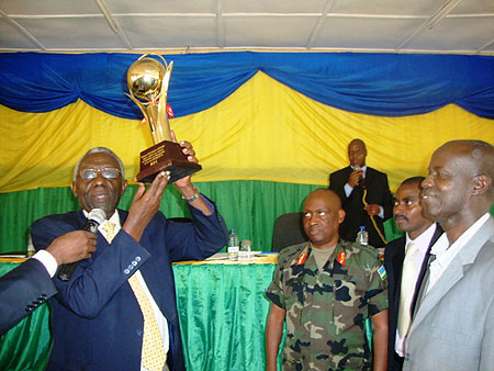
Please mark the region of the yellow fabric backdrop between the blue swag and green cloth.
[[[121, 156], [132, 179], [139, 151], [153, 145], [146, 125], [81, 101], [48, 113], [0, 106], [0, 192], [68, 186], [75, 161], [94, 146]], [[406, 117], [356, 114], [317, 103], [262, 72], [217, 105], [171, 120], [171, 128], [198, 153], [203, 170], [195, 181], [326, 186], [330, 171], [348, 165], [346, 147], [359, 137], [368, 146], [368, 165], [388, 173], [392, 191], [406, 177], [425, 175], [434, 149], [449, 139], [494, 143], [492, 120], [456, 105]]]

